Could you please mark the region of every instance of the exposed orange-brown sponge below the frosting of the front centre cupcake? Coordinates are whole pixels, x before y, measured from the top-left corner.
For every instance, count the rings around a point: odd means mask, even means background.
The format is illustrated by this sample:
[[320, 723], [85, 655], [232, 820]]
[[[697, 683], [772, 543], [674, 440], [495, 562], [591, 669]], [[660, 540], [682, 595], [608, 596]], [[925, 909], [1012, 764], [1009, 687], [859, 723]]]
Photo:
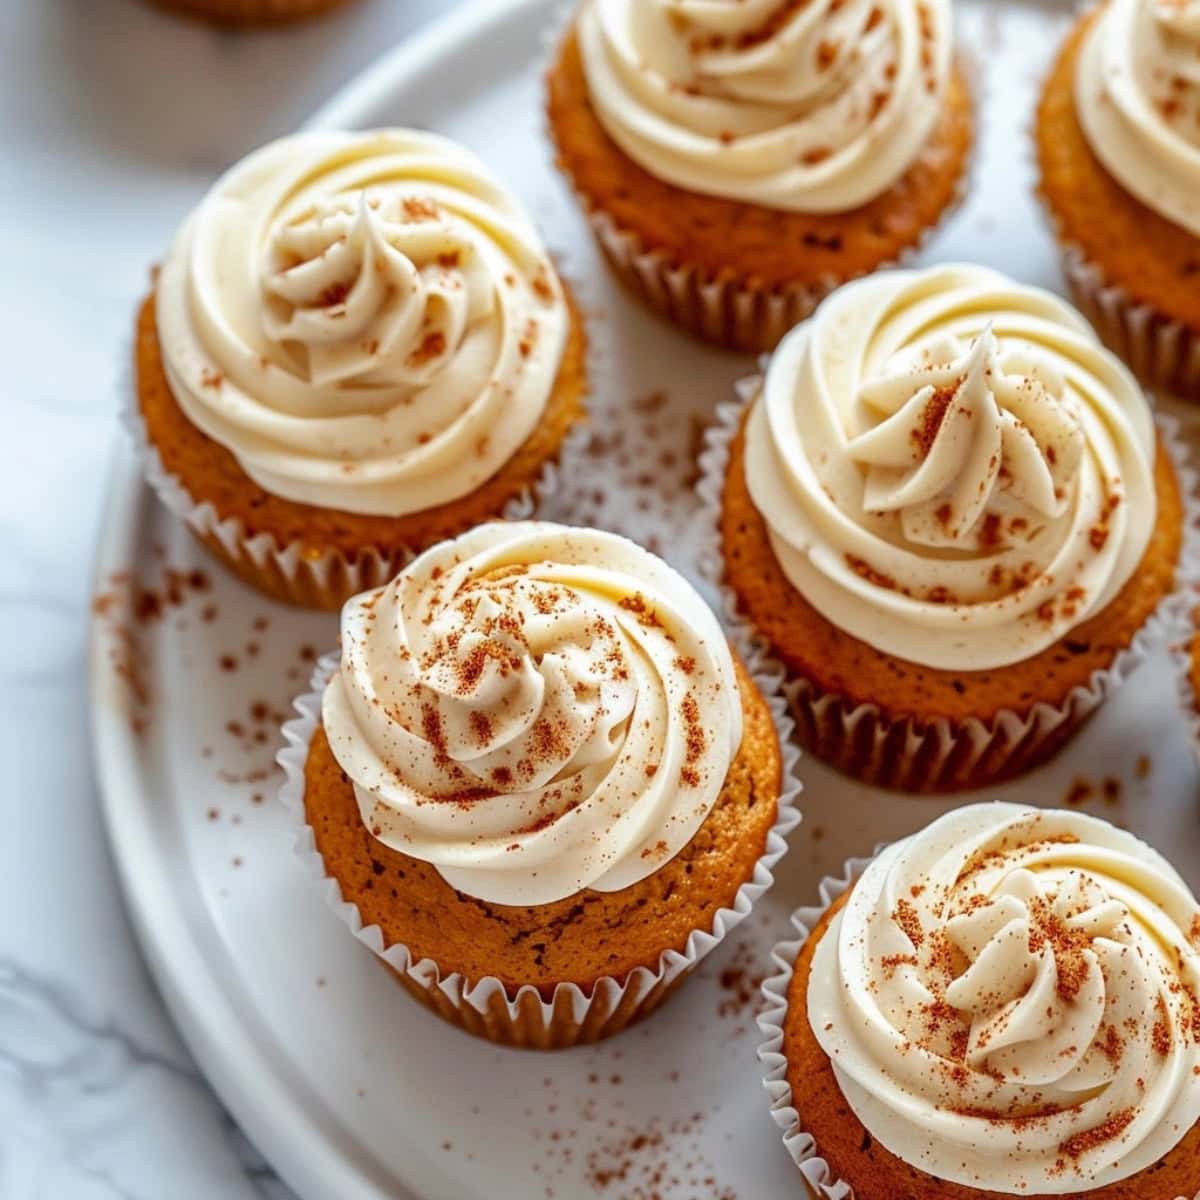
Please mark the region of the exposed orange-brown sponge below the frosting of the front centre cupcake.
[[[710, 930], [766, 851], [782, 786], [782, 752], [767, 700], [737, 662], [744, 734], [725, 786], [691, 841], [653, 875], [620, 892], [583, 890], [532, 907], [488, 904], [456, 892], [428, 863], [376, 840], [362, 823], [354, 787], [324, 730], [305, 764], [305, 810], [326, 872], [384, 944], [430, 958], [443, 976], [523, 984], [546, 1000], [559, 983], [584, 991], [601, 977], [623, 982], [660, 955], [683, 950]], [[412, 990], [412, 989], [410, 989]]]

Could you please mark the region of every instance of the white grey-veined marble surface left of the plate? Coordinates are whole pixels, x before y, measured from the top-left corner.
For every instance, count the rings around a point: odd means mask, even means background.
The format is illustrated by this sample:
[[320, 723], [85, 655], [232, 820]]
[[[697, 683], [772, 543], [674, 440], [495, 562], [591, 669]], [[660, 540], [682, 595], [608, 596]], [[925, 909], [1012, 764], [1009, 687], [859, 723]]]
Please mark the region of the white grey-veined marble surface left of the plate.
[[280, 1200], [138, 955], [88, 744], [91, 558], [132, 313], [205, 184], [454, 0], [281, 32], [0, 4], [0, 1198]]

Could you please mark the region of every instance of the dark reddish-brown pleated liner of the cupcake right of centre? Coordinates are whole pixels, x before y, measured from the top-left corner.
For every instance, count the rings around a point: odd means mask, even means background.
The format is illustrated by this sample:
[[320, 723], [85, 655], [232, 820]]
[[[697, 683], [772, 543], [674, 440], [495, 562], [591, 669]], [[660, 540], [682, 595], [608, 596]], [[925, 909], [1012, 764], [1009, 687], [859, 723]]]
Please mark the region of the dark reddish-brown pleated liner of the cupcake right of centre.
[[[716, 424], [704, 434], [697, 487], [703, 511], [704, 548], [701, 571], [721, 592], [731, 617], [738, 599], [725, 581], [720, 545], [721, 492], [728, 466], [730, 445], [746, 404], [757, 395], [762, 376], [738, 384], [738, 401], [719, 404]], [[1121, 650], [1112, 664], [1092, 673], [1086, 686], [1075, 688], [1055, 706], [1034, 704], [1026, 713], [1001, 709], [990, 720], [972, 718], [952, 722], [946, 718], [893, 719], [875, 704], [852, 704], [806, 679], [784, 684], [800, 744], [846, 775], [866, 784], [906, 792], [953, 792], [1009, 779], [1054, 755], [1104, 701], [1133, 673], [1164, 637], [1175, 636], [1194, 602], [1200, 578], [1200, 502], [1196, 476], [1188, 462], [1178, 422], [1158, 414], [1158, 426], [1178, 475], [1183, 496], [1183, 541], [1176, 566], [1175, 589]], [[764, 640], [762, 640], [764, 641]]]

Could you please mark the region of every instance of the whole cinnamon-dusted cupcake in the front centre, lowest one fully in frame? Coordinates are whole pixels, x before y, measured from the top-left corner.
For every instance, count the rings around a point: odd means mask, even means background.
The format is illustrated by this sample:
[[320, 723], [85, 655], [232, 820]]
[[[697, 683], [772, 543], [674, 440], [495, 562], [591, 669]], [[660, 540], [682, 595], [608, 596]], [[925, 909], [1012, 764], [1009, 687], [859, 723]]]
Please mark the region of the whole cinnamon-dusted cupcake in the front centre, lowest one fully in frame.
[[280, 756], [302, 852], [409, 992], [494, 1042], [653, 1012], [796, 820], [772, 703], [691, 586], [613, 534], [436, 546], [346, 605], [318, 674]]

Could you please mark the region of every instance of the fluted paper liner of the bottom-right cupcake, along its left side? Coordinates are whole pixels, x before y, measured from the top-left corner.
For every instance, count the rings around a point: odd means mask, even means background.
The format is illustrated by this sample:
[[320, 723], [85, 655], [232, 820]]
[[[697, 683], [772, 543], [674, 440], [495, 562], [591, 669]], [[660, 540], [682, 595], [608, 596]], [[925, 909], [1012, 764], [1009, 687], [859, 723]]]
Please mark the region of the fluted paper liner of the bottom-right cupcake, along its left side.
[[[883, 847], [878, 847], [876, 853]], [[792, 1104], [792, 1087], [787, 1081], [787, 1057], [784, 1054], [784, 1030], [787, 1025], [787, 991], [796, 972], [796, 960], [812, 930], [829, 906], [845, 895], [870, 865], [870, 858], [851, 858], [840, 876], [826, 876], [817, 889], [821, 902], [797, 908], [791, 924], [796, 936], [779, 942], [770, 952], [774, 973], [763, 980], [763, 1009], [758, 1014], [758, 1031], [764, 1040], [758, 1046], [763, 1087], [770, 1102], [770, 1116], [784, 1138], [784, 1148], [800, 1171], [812, 1195], [818, 1200], [871, 1200], [857, 1196], [854, 1189], [838, 1178], [821, 1157], [816, 1139], [804, 1129], [803, 1117]], [[1178, 1200], [1188, 1200], [1180, 1196]], [[1192, 1200], [1200, 1200], [1200, 1192]]]

